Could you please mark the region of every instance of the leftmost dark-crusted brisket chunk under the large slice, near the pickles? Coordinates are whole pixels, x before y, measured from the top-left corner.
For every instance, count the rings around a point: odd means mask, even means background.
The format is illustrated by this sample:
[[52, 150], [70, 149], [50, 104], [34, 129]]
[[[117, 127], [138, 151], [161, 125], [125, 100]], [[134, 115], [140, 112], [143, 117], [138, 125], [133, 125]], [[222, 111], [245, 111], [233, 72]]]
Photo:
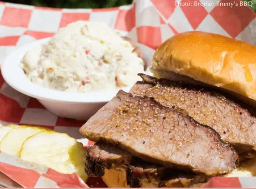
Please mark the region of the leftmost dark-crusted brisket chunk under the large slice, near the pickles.
[[87, 146], [85, 172], [89, 177], [102, 177], [105, 169], [129, 164], [132, 158], [129, 152], [112, 145], [96, 143]]

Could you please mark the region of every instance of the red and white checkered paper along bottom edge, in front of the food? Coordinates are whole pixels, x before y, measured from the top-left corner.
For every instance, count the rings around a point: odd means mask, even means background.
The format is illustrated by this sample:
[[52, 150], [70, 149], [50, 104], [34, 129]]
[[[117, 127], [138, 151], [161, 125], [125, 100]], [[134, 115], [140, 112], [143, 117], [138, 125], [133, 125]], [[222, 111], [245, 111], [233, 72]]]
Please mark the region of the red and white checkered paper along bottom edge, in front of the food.
[[[75, 173], [62, 174], [43, 165], [0, 153], [0, 171], [26, 188], [87, 188], [107, 187], [101, 178], [89, 178], [87, 185]], [[256, 177], [214, 177], [206, 188], [255, 188]]]

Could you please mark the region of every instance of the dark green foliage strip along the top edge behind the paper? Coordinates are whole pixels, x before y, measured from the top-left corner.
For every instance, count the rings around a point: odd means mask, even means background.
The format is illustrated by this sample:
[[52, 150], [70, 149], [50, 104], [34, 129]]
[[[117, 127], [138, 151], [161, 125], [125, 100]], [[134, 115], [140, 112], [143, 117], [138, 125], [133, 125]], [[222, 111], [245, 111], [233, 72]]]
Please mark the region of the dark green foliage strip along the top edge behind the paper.
[[[109, 8], [131, 4], [132, 0], [4, 0], [18, 4], [54, 8]], [[159, 0], [160, 1], [160, 0]], [[243, 0], [252, 2], [252, 10], [256, 12], [256, 0]]]

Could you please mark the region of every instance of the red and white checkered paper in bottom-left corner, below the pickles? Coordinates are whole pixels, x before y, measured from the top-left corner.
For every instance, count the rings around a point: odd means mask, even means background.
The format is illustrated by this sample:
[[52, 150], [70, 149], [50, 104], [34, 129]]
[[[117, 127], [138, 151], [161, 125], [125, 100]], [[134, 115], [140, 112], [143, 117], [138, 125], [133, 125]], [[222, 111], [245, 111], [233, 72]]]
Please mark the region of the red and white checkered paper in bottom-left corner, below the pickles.
[[0, 171], [25, 188], [88, 188], [75, 173], [58, 173], [3, 152], [0, 153]]

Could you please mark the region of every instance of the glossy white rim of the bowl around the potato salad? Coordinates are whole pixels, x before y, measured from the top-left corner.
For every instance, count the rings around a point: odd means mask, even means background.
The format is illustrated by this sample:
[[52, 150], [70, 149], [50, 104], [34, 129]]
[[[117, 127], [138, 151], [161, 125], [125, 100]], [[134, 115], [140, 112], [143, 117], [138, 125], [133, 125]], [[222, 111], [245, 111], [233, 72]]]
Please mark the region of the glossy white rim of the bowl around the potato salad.
[[[42, 43], [45, 43], [50, 38], [44, 38], [41, 40], [36, 40], [32, 43], [25, 44], [15, 51], [10, 53], [1, 65], [1, 73], [7, 84], [9, 84], [15, 90], [37, 99], [49, 100], [49, 101], [61, 101], [61, 102], [72, 102], [72, 103], [103, 103], [110, 101], [116, 93], [122, 89], [126, 92], [130, 90], [131, 87], [117, 88], [114, 90], [106, 92], [63, 92], [50, 88], [42, 87], [38, 84], [31, 82], [24, 74], [22, 68], [19, 64], [21, 58], [24, 56], [25, 52], [30, 48], [34, 48]], [[149, 51], [154, 51], [153, 49], [139, 44], [143, 48], [149, 49]], [[13, 73], [13, 74], [10, 74]]]

